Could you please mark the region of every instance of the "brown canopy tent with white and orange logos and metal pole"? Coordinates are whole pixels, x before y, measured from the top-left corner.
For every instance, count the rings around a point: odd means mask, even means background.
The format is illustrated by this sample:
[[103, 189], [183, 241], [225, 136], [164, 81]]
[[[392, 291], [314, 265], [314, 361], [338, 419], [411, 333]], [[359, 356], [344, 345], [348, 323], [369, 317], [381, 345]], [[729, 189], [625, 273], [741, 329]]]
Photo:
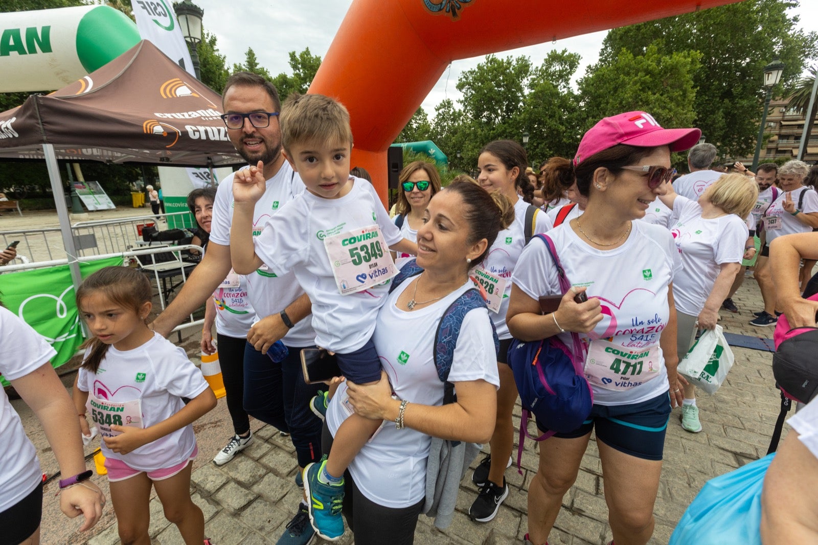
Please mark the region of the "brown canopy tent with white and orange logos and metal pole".
[[75, 286], [79, 266], [57, 160], [244, 164], [222, 97], [143, 40], [83, 79], [0, 114], [0, 160], [45, 160]]

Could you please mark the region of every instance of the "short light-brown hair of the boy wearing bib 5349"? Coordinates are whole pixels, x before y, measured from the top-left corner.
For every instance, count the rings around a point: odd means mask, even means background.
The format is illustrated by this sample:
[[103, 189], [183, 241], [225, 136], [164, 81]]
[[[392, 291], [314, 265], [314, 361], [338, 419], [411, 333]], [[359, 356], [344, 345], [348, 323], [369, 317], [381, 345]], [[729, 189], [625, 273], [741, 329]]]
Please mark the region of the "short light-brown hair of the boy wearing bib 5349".
[[353, 144], [349, 112], [339, 101], [324, 95], [294, 92], [281, 106], [281, 145], [289, 153], [294, 144], [338, 142]]

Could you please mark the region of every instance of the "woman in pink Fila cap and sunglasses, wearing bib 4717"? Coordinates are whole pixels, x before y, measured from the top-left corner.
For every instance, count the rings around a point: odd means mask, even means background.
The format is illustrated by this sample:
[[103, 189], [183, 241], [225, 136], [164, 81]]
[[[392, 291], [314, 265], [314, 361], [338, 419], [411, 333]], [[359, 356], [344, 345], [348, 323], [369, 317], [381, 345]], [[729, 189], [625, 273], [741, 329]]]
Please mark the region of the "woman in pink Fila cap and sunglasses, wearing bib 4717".
[[[532, 241], [511, 277], [507, 322], [519, 340], [557, 335], [570, 346], [570, 332], [580, 333], [594, 405], [577, 430], [540, 445], [528, 489], [527, 543], [546, 543], [594, 429], [613, 540], [647, 543], [653, 534], [667, 419], [681, 405], [685, 384], [676, 374], [672, 295], [681, 261], [667, 229], [634, 220], [672, 178], [671, 151], [689, 149], [700, 134], [662, 128], [632, 111], [597, 123], [573, 160], [552, 160], [560, 178], [576, 182], [588, 200], [585, 214], [548, 232], [573, 287], [554, 312], [541, 312], [540, 297], [562, 293], [546, 245]], [[582, 291], [588, 300], [576, 303]]]

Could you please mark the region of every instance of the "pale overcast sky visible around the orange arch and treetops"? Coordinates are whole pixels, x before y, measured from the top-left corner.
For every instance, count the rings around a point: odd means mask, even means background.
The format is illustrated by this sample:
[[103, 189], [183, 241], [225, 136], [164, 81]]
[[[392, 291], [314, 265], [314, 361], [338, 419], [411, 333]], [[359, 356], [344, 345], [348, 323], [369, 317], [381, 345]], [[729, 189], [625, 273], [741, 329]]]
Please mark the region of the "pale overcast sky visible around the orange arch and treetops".
[[[219, 52], [227, 56], [228, 66], [244, 62], [247, 48], [253, 47], [259, 64], [275, 75], [290, 73], [290, 65], [287, 64], [290, 51], [301, 52], [309, 47], [313, 55], [326, 56], [352, 0], [243, 2], [240, 9], [226, 9], [226, 4], [229, 4], [223, 0], [193, 2], [205, 10], [203, 25], [218, 37]], [[801, 0], [801, 7], [793, 10], [793, 15], [801, 17], [799, 25], [802, 29], [818, 30], [818, 1]], [[542, 43], [498, 52], [497, 55], [526, 55], [531, 57], [534, 65], [539, 65], [551, 50], [568, 49], [582, 56], [576, 74], [581, 77], [587, 65], [597, 61], [605, 34], [606, 31], [584, 34], [555, 44]], [[423, 102], [426, 113], [433, 115], [434, 106], [444, 98], [456, 101], [460, 92], [455, 85], [461, 72], [474, 68], [483, 58], [479, 56], [452, 62]]]

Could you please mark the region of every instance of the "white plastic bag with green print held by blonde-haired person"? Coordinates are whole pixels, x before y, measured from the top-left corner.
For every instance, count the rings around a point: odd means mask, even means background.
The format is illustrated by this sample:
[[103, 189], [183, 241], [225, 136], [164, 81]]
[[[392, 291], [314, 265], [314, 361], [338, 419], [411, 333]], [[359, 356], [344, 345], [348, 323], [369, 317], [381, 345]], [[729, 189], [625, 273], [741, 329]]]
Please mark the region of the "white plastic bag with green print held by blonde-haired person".
[[678, 372], [690, 381], [690, 384], [715, 394], [724, 384], [727, 372], [733, 367], [735, 357], [730, 345], [724, 338], [721, 326], [708, 329], [702, 333], [685, 358], [679, 363]]

